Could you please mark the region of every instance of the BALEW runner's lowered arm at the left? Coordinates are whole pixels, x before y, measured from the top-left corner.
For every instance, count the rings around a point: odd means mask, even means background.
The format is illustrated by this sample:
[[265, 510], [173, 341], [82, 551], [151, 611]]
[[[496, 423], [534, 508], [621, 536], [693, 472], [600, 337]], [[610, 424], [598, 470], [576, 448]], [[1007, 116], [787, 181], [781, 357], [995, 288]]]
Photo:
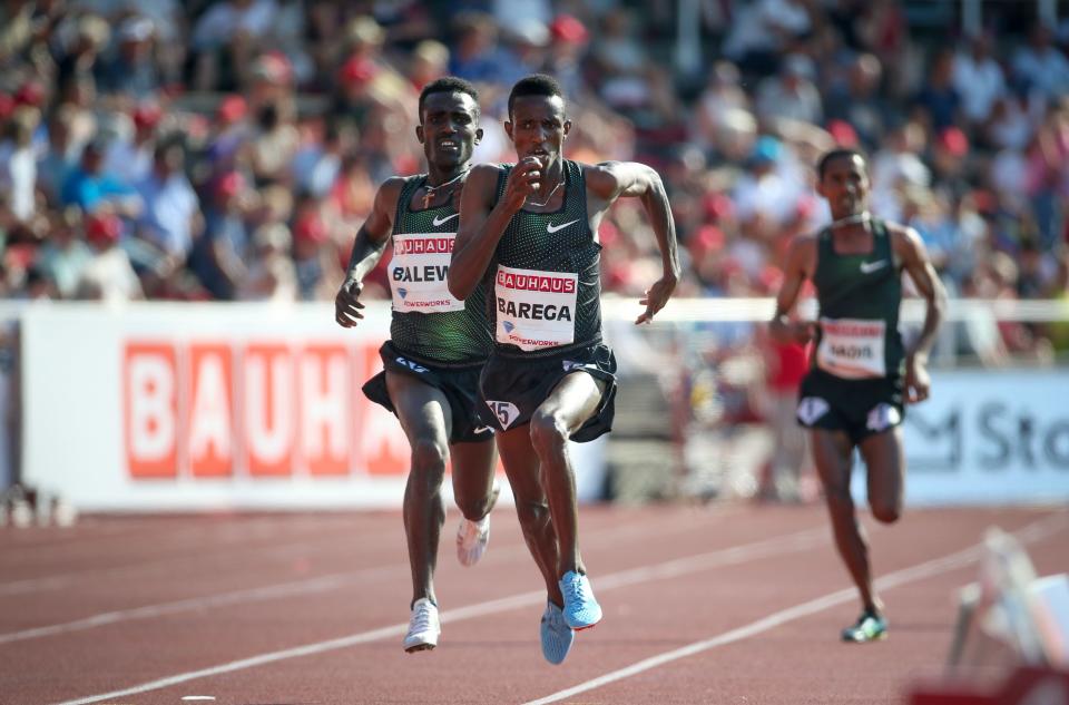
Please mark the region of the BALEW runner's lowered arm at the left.
[[342, 327], [351, 329], [356, 325], [357, 319], [364, 317], [360, 312], [364, 307], [360, 302], [360, 292], [363, 290], [364, 277], [379, 264], [390, 241], [393, 216], [398, 212], [398, 198], [401, 197], [404, 179], [395, 176], [380, 186], [371, 215], [356, 231], [345, 281], [334, 297], [334, 320]]

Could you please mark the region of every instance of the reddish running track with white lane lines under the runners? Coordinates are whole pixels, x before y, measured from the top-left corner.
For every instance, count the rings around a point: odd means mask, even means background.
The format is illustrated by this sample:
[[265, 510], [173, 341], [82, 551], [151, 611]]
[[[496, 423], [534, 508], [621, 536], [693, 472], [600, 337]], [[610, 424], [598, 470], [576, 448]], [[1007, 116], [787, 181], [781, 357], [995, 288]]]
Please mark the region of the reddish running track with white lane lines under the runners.
[[[542, 660], [541, 579], [509, 507], [483, 561], [443, 532], [439, 648], [406, 655], [399, 512], [90, 517], [0, 529], [0, 703], [903, 703], [939, 672], [989, 526], [1069, 569], [1069, 511], [864, 518], [891, 637], [845, 645], [857, 600], [821, 507], [586, 507], [605, 608]], [[193, 699], [199, 696], [200, 699]], [[208, 699], [210, 698], [210, 699]]]

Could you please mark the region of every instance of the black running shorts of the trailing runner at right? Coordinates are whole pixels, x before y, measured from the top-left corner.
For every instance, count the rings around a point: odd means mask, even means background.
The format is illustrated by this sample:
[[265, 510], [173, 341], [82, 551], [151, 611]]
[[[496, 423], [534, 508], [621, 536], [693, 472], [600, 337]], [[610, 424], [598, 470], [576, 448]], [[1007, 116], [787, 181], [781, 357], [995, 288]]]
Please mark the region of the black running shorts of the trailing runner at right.
[[844, 380], [813, 369], [798, 390], [797, 420], [811, 429], [845, 431], [854, 444], [902, 423], [902, 376]]

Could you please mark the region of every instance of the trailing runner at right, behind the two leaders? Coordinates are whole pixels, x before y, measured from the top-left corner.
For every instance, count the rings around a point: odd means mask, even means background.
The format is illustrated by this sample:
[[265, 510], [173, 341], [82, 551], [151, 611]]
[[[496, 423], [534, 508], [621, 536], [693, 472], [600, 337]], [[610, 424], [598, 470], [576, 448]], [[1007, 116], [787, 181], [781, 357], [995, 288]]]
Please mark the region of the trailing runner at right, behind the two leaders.
[[[887, 621], [850, 495], [853, 450], [859, 449], [867, 468], [873, 517], [896, 521], [905, 477], [899, 424], [905, 403], [928, 399], [928, 353], [947, 295], [920, 236], [869, 215], [869, 172], [861, 154], [825, 154], [817, 177], [834, 222], [791, 243], [771, 329], [781, 341], [816, 344], [798, 392], [797, 418], [811, 429], [835, 544], [861, 595], [861, 617], [842, 637], [863, 643], [884, 638]], [[923, 327], [908, 349], [899, 334], [903, 270], [928, 304]], [[817, 292], [818, 321], [792, 321], [807, 278]]]

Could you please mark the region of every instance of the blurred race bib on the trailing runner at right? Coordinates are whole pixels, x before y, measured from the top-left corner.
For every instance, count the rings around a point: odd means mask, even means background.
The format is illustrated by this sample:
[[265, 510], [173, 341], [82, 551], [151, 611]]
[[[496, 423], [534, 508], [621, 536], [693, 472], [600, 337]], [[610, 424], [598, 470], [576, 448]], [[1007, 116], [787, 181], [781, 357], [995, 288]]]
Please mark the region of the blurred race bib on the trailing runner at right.
[[821, 344], [816, 364], [845, 380], [886, 376], [883, 345], [884, 321], [821, 319]]

